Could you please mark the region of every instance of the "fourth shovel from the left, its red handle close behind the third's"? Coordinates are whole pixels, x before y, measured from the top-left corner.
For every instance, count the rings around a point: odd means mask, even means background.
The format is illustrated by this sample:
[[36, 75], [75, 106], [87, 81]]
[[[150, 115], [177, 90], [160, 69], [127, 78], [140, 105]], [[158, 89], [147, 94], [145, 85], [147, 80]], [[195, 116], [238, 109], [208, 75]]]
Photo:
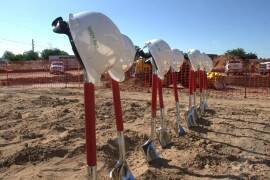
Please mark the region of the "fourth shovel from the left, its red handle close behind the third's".
[[162, 148], [166, 148], [170, 143], [170, 136], [164, 125], [164, 101], [162, 92], [162, 81], [158, 78], [158, 97], [160, 106], [160, 128], [157, 129], [157, 136]]

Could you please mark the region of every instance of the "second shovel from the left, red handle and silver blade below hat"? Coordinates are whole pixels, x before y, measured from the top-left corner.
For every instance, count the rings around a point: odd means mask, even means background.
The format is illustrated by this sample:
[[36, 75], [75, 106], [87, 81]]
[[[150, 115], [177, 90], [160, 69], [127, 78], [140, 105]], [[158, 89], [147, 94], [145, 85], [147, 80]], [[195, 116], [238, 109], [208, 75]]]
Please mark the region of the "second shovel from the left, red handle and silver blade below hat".
[[120, 90], [119, 84], [112, 79], [112, 92], [113, 92], [113, 103], [114, 103], [114, 113], [116, 120], [116, 129], [118, 136], [118, 146], [119, 146], [119, 160], [116, 162], [115, 166], [110, 172], [110, 178], [115, 180], [133, 180], [135, 179], [126, 162], [126, 148], [124, 139], [124, 125], [122, 119], [122, 107], [120, 101]]

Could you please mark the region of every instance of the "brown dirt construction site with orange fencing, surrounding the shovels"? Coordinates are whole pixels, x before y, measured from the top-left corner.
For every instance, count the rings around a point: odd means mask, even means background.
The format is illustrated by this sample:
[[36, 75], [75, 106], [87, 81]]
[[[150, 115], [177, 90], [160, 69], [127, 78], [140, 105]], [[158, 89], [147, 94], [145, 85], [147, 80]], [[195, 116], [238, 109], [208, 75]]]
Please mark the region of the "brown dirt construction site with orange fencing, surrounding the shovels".
[[[39, 62], [43, 66], [31, 65], [31, 68], [2, 65], [0, 172], [3, 179], [86, 178], [82, 69], [78, 65], [64, 74], [53, 75], [44, 62]], [[186, 60], [177, 74], [180, 121], [186, 130], [179, 138], [173, 130], [176, 110], [172, 73], [168, 72], [163, 94], [166, 127], [172, 139], [168, 149], [162, 149], [155, 141], [161, 163], [149, 166], [141, 145], [150, 131], [152, 70], [142, 60], [137, 62], [126, 73], [125, 82], [120, 83], [127, 162], [136, 179], [267, 179], [270, 176], [268, 74], [247, 77], [209, 73], [209, 109], [198, 121], [199, 126], [189, 130], [184, 118], [190, 67]], [[12, 68], [17, 71], [11, 71]], [[97, 171], [101, 179], [109, 178], [108, 172], [119, 156], [110, 87], [110, 78], [104, 74], [96, 88]]]

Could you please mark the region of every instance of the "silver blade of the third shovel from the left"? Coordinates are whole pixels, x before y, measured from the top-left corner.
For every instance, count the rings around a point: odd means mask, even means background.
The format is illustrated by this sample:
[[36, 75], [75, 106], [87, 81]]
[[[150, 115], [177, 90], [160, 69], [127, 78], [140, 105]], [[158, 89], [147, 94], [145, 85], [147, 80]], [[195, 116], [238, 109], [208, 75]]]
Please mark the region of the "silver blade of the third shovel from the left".
[[152, 161], [160, 158], [151, 139], [148, 139], [142, 145], [142, 150], [148, 163], [151, 163]]

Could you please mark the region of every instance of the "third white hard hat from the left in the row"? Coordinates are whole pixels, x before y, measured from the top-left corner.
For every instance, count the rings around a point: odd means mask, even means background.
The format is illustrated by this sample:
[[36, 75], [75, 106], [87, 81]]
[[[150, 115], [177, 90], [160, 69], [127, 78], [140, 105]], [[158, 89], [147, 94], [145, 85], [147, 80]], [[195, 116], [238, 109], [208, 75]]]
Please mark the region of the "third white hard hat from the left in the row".
[[157, 65], [157, 76], [164, 79], [164, 75], [170, 70], [172, 62], [172, 50], [170, 46], [161, 39], [153, 39], [146, 42], [154, 61]]

